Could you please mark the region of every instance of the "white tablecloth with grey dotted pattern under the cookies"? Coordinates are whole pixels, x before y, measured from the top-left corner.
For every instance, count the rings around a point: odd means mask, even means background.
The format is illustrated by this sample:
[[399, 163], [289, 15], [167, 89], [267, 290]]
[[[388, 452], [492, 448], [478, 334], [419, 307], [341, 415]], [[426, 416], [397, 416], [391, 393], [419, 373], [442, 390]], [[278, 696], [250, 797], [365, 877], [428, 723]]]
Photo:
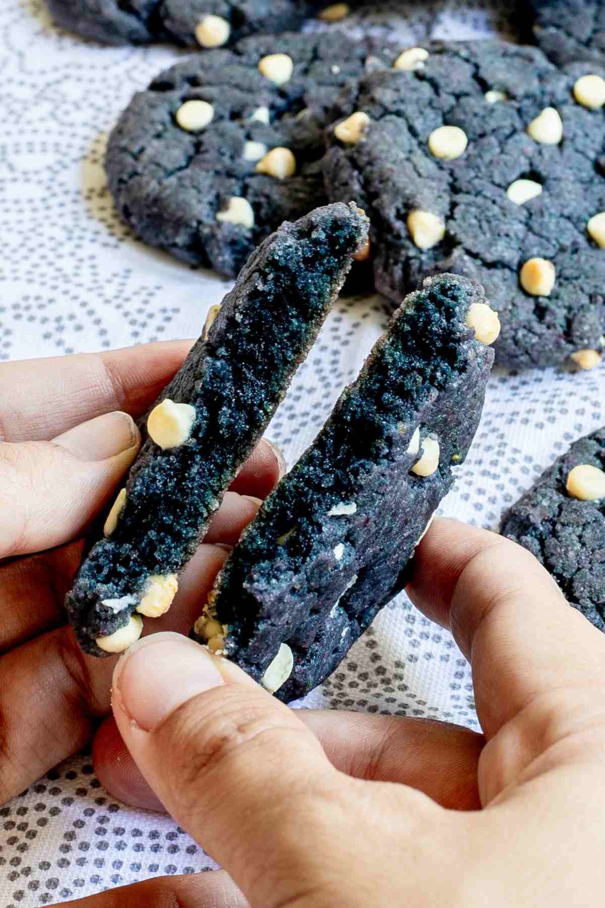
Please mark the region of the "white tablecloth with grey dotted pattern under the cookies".
[[[416, 2], [416, 0], [412, 0]], [[394, 30], [481, 37], [489, 6], [433, 5]], [[418, 8], [420, 5], [418, 4]], [[228, 289], [136, 242], [117, 220], [102, 157], [135, 89], [179, 58], [172, 47], [106, 48], [54, 28], [43, 0], [0, 5], [0, 359], [100, 350], [200, 332]], [[300, 368], [268, 435], [291, 464], [384, 329], [378, 301], [343, 300]], [[496, 372], [470, 456], [442, 512], [496, 528], [508, 504], [572, 439], [605, 422], [603, 368]], [[435, 716], [477, 727], [469, 667], [449, 634], [405, 596], [376, 619], [313, 706]], [[26, 716], [24, 717], [26, 721]], [[57, 767], [0, 808], [0, 908], [30, 908], [210, 859], [170, 819], [118, 804], [90, 755]]]

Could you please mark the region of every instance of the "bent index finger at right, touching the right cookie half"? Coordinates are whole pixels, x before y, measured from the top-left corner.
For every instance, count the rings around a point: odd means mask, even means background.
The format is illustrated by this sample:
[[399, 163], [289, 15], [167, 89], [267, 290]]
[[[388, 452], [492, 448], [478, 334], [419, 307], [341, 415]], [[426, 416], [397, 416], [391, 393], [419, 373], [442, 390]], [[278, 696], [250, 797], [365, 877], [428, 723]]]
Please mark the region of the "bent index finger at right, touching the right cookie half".
[[439, 519], [418, 547], [413, 570], [407, 587], [413, 602], [451, 627], [471, 660], [486, 737], [542, 696], [602, 684], [602, 635], [521, 546]]

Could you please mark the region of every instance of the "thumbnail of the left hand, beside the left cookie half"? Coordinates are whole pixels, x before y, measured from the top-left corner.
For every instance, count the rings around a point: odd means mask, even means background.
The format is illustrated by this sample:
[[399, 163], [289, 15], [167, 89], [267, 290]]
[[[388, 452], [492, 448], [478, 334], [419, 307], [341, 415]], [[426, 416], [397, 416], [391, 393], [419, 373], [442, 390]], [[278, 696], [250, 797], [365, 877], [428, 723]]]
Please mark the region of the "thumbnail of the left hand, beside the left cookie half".
[[53, 440], [79, 460], [106, 460], [138, 447], [140, 439], [132, 417], [116, 410], [74, 426]]

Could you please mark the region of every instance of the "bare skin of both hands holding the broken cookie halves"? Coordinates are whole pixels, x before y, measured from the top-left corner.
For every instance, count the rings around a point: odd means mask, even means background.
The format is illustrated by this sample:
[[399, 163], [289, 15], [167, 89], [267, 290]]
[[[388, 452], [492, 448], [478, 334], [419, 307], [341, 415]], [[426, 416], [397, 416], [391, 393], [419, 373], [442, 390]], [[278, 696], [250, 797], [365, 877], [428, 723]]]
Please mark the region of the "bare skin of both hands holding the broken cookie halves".
[[[94, 748], [102, 781], [131, 803], [162, 804], [225, 868], [71, 908], [599, 904], [604, 641], [509, 540], [435, 520], [408, 587], [471, 661], [484, 737], [434, 722], [291, 710], [174, 633], [144, 638], [117, 665], [80, 653], [63, 626], [63, 591], [79, 537], [139, 442], [123, 416], [80, 424], [118, 409], [136, 417], [187, 349], [0, 368], [8, 442], [0, 446], [0, 799], [87, 744], [109, 711], [113, 671], [114, 718]], [[272, 451], [257, 458], [158, 630], [189, 627], [225, 558], [220, 543], [233, 543], [277, 480]]]

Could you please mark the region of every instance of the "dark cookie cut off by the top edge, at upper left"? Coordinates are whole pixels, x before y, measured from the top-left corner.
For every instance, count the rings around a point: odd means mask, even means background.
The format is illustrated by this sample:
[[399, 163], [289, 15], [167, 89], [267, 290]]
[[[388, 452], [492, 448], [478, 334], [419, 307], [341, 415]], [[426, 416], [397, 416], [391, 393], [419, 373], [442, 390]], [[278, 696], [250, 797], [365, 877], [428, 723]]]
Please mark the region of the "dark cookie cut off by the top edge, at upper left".
[[286, 32], [326, 0], [47, 0], [57, 25], [103, 44], [168, 41], [222, 47], [246, 35]]

